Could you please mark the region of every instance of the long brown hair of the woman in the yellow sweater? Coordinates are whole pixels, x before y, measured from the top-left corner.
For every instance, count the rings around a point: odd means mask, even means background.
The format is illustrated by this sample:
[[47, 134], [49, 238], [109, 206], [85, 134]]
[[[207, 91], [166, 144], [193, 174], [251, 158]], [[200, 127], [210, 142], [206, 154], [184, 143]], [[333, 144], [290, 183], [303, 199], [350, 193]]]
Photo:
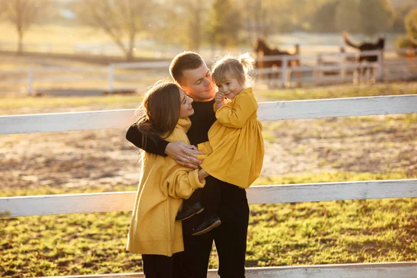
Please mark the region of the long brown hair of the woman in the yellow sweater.
[[158, 81], [147, 90], [137, 113], [143, 110], [136, 126], [142, 133], [142, 145], [145, 147], [147, 137], [156, 140], [165, 139], [174, 132], [179, 119], [181, 99], [176, 83]]

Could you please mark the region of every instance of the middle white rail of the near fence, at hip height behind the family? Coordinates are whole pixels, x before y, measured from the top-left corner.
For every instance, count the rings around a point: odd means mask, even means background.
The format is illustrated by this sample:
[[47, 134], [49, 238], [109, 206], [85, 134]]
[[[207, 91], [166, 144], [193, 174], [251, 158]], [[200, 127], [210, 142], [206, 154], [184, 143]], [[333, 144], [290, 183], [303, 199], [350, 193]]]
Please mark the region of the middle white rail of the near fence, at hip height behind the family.
[[[5, 217], [131, 211], [136, 191], [0, 197]], [[250, 204], [417, 197], [417, 179], [253, 186]]]

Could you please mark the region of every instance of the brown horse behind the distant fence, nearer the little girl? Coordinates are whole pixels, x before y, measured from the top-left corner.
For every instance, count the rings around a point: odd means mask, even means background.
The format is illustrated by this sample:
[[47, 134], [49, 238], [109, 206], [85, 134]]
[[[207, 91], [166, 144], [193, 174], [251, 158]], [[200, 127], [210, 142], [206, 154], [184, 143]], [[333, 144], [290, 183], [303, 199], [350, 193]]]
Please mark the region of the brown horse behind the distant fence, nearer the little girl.
[[[254, 52], [256, 53], [256, 68], [258, 69], [265, 69], [265, 68], [272, 68], [272, 67], [282, 67], [282, 60], [259, 60], [259, 58], [263, 58], [265, 56], [294, 56], [300, 54], [300, 45], [295, 44], [295, 51], [290, 53], [288, 51], [281, 51], [277, 48], [268, 47], [268, 44], [265, 43], [265, 40], [258, 38], [254, 43]], [[287, 67], [297, 67], [300, 66], [300, 59], [299, 58], [290, 58], [287, 62]], [[287, 72], [283, 72], [282, 74], [286, 74], [286, 86], [289, 85], [291, 81], [291, 70], [287, 70]], [[260, 76], [263, 76], [260, 74]], [[277, 74], [267, 74], [268, 79], [277, 79]], [[296, 72], [297, 79], [301, 79], [301, 72]], [[297, 82], [300, 85], [300, 81]]]

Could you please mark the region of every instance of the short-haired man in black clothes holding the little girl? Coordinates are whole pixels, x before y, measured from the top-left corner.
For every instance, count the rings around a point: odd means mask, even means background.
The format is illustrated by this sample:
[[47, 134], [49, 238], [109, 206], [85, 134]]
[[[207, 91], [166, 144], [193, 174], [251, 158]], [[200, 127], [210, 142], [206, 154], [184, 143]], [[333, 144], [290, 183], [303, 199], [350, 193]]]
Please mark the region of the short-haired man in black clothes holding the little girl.
[[[215, 86], [202, 57], [195, 52], [186, 51], [177, 55], [170, 65], [172, 78], [181, 85], [181, 88], [193, 98], [194, 115], [190, 116], [192, 122], [187, 136], [192, 145], [184, 142], [166, 142], [162, 139], [147, 140], [142, 146], [142, 134], [133, 124], [126, 133], [126, 139], [147, 152], [161, 156], [171, 156], [177, 163], [187, 167], [198, 167], [201, 161], [197, 160], [196, 148], [201, 142], [208, 140], [208, 129], [215, 122], [213, 111]], [[191, 231], [201, 223], [202, 215], [195, 215], [183, 220], [183, 241], [185, 251], [181, 254], [183, 277], [206, 278], [208, 259], [215, 243], [219, 258], [218, 274], [222, 278], [245, 277], [245, 252], [247, 225], [249, 221], [249, 206], [246, 191], [237, 186], [225, 183], [213, 177], [206, 178], [206, 186], [217, 185], [220, 188], [220, 204], [218, 216], [222, 224], [201, 236], [192, 236]], [[208, 204], [209, 199], [202, 197], [202, 204]]]

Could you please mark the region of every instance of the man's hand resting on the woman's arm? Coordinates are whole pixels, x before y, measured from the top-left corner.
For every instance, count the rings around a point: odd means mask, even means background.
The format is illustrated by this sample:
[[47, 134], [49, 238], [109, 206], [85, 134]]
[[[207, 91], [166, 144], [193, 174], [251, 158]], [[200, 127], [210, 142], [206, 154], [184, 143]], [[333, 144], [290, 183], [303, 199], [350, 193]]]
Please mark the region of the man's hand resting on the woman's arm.
[[202, 161], [197, 159], [197, 154], [203, 154], [197, 151], [197, 147], [188, 145], [185, 142], [170, 142], [165, 148], [165, 154], [174, 158], [179, 164], [189, 168], [197, 169]]

